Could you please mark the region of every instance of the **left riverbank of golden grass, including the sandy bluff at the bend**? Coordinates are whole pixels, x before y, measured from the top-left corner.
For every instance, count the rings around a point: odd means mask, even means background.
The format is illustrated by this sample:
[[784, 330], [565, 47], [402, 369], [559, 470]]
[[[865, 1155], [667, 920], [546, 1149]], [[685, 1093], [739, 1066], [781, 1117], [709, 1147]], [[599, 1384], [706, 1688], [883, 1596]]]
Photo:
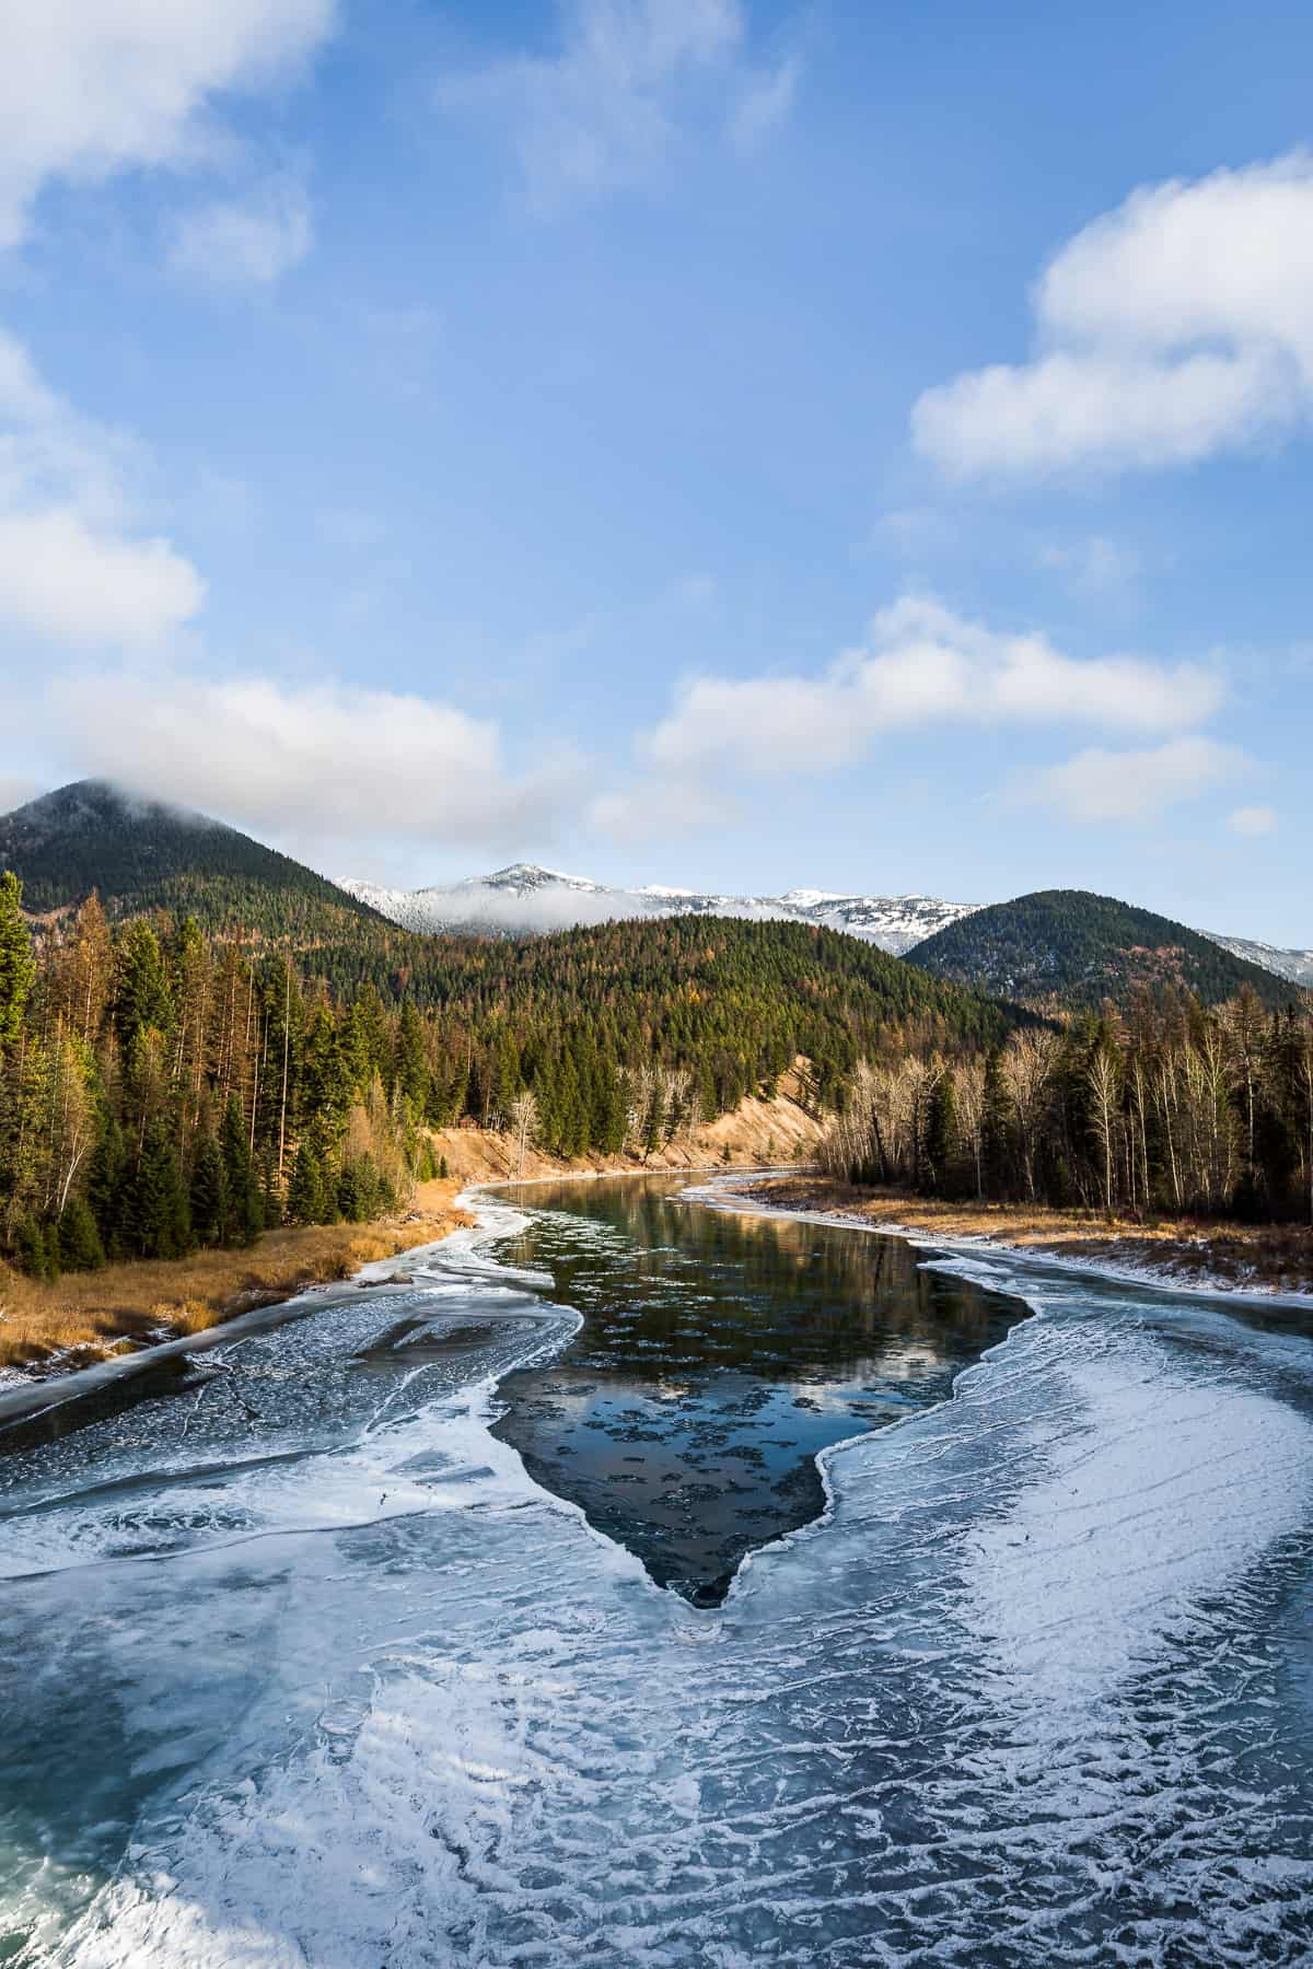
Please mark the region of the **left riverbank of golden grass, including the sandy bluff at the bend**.
[[364, 1264], [433, 1244], [469, 1225], [457, 1205], [469, 1183], [640, 1170], [742, 1170], [809, 1154], [819, 1122], [797, 1101], [791, 1075], [774, 1101], [750, 1097], [730, 1114], [685, 1130], [650, 1158], [569, 1160], [484, 1128], [433, 1130], [445, 1177], [419, 1183], [406, 1211], [366, 1225], [293, 1225], [266, 1231], [250, 1250], [146, 1258], [102, 1272], [67, 1272], [55, 1284], [0, 1264], [0, 1382], [75, 1372], [114, 1355], [205, 1333], [252, 1307], [278, 1305], [311, 1286], [350, 1278]]

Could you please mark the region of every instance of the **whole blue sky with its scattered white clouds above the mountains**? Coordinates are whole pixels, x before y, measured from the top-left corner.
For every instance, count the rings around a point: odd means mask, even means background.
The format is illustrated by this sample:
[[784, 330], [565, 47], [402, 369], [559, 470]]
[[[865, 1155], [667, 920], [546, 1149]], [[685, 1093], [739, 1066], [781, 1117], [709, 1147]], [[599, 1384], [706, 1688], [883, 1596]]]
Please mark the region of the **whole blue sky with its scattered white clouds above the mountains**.
[[6, 803], [1313, 941], [1305, 8], [0, 33]]

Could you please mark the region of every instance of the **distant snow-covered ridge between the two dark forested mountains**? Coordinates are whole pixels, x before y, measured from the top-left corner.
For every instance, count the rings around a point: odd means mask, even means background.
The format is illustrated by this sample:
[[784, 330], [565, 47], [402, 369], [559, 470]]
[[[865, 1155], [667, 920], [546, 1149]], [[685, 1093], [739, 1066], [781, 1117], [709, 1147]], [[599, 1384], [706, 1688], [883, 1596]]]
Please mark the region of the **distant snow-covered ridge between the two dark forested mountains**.
[[894, 955], [970, 916], [974, 908], [933, 896], [850, 896], [821, 888], [791, 888], [783, 896], [713, 896], [663, 884], [606, 888], [533, 862], [512, 862], [494, 874], [437, 888], [380, 888], [350, 880], [341, 886], [404, 929], [516, 937], [632, 918], [736, 916], [762, 923], [823, 923]]

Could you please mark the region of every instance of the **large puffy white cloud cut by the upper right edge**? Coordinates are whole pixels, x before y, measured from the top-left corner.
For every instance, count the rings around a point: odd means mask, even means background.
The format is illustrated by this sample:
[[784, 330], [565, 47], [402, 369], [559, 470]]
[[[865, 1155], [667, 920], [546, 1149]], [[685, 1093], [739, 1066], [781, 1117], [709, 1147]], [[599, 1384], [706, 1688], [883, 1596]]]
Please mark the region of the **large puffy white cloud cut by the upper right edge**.
[[1313, 159], [1134, 191], [1043, 270], [1032, 362], [911, 412], [953, 476], [1193, 465], [1313, 419]]

